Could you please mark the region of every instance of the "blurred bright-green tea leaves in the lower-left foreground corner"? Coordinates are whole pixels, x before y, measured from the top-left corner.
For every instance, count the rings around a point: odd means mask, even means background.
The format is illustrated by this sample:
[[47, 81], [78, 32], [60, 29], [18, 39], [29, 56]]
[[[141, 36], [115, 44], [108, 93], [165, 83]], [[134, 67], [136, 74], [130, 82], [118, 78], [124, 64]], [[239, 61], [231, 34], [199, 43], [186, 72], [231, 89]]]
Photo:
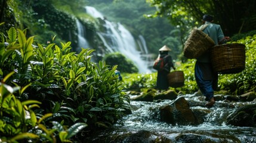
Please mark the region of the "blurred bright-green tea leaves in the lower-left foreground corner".
[[[34, 108], [40, 108], [41, 102], [36, 100], [20, 101], [14, 96], [14, 92], [20, 86], [11, 87], [5, 84], [6, 80], [14, 74], [7, 74], [0, 82], [0, 140], [2, 142], [67, 142], [69, 139], [85, 128], [87, 124], [76, 123], [69, 129], [54, 122], [54, 126], [46, 125], [44, 120], [51, 117], [51, 113], [45, 115], [36, 114]], [[25, 89], [22, 90], [23, 92]], [[61, 129], [61, 130], [57, 130]]]

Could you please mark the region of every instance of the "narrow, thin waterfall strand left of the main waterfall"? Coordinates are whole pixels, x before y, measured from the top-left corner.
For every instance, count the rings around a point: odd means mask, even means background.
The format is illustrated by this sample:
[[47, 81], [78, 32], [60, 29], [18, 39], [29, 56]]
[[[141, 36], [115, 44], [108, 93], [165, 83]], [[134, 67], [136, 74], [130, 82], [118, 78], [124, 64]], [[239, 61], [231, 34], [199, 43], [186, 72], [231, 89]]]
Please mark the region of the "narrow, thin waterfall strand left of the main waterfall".
[[76, 19], [76, 26], [78, 27], [78, 49], [80, 51], [81, 48], [89, 48], [90, 45], [85, 39], [85, 29], [82, 23]]

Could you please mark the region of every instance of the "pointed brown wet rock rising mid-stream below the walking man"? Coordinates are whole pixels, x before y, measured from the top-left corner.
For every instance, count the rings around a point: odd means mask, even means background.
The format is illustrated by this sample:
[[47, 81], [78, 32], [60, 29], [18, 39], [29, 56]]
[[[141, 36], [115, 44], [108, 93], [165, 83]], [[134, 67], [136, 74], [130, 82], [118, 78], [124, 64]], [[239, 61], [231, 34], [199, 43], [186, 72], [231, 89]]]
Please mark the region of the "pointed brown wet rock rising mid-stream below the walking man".
[[189, 108], [189, 102], [184, 97], [180, 97], [171, 105], [160, 107], [160, 119], [172, 125], [196, 125], [198, 122]]

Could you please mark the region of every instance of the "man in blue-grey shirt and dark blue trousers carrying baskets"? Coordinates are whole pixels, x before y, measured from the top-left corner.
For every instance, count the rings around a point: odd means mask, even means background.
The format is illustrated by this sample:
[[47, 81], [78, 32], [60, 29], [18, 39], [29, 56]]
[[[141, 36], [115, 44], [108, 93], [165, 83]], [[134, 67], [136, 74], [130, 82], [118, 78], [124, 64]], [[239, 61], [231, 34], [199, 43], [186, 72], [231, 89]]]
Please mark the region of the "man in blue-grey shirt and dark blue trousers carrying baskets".
[[[202, 26], [208, 25], [203, 32], [209, 35], [215, 42], [215, 45], [223, 44], [230, 40], [229, 37], [224, 36], [220, 25], [212, 23], [213, 17], [211, 15], [203, 15], [202, 21]], [[202, 94], [206, 97], [208, 102], [205, 105], [208, 107], [211, 107], [215, 103], [214, 90], [218, 86], [218, 73], [212, 70], [210, 56], [209, 50], [206, 51], [197, 58], [195, 65], [196, 83]]]

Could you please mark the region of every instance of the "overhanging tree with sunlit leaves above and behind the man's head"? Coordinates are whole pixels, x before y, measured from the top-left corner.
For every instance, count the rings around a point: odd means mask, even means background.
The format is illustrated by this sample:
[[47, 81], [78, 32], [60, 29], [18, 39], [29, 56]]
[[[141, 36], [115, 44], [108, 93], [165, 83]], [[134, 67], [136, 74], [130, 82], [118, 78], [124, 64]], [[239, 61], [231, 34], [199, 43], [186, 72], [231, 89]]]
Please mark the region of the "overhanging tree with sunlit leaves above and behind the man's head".
[[254, 0], [146, 0], [156, 13], [149, 17], [167, 17], [186, 35], [199, 26], [203, 14], [214, 15], [225, 35], [248, 32], [256, 28], [256, 1]]

